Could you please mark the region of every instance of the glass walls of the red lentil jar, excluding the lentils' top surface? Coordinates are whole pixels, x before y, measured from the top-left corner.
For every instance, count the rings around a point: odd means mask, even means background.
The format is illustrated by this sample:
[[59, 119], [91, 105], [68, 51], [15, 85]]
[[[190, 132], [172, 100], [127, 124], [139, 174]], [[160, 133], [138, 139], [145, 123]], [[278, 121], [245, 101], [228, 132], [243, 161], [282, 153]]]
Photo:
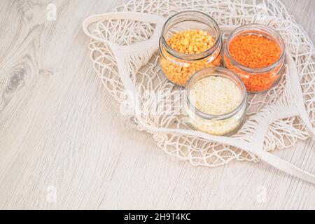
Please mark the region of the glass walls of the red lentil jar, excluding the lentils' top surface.
[[[279, 59], [273, 64], [262, 68], [251, 68], [237, 62], [230, 54], [229, 47], [234, 38], [243, 35], [258, 35], [274, 41], [279, 45], [281, 51]], [[274, 29], [265, 25], [250, 24], [238, 27], [232, 31], [225, 43], [223, 63], [225, 67], [234, 71], [241, 77], [247, 92], [265, 92], [274, 87], [281, 79], [285, 64], [285, 44], [283, 38], [281, 38], [280, 34]]]

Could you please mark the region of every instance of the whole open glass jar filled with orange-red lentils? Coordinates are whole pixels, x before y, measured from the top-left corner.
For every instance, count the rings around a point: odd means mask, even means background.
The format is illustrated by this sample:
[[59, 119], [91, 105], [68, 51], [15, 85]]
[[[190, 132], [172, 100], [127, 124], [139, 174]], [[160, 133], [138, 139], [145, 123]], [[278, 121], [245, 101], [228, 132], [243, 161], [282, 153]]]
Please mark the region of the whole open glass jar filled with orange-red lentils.
[[241, 77], [247, 92], [265, 92], [281, 79], [285, 64], [283, 38], [265, 25], [238, 27], [225, 43], [223, 63]]

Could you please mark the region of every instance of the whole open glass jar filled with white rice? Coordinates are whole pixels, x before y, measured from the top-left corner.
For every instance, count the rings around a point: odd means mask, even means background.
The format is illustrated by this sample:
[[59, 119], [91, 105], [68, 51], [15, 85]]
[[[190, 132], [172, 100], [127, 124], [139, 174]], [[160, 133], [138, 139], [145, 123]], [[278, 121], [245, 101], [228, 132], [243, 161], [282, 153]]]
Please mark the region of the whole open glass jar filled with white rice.
[[246, 87], [228, 69], [197, 71], [186, 85], [183, 109], [194, 130], [227, 136], [237, 132], [246, 118]]

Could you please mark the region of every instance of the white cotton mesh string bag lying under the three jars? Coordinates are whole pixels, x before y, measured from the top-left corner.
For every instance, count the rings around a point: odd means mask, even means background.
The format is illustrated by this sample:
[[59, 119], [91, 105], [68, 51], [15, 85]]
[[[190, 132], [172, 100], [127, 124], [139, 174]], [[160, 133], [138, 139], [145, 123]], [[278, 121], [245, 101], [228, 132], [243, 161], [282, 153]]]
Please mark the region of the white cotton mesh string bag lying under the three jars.
[[[211, 15], [225, 36], [239, 25], [255, 22], [273, 27], [286, 42], [285, 75], [265, 94], [248, 96], [246, 123], [232, 137], [190, 130], [179, 111], [150, 113], [155, 110], [154, 97], [140, 94], [165, 91], [162, 100], [167, 104], [181, 102], [181, 96], [175, 94], [179, 87], [167, 81], [158, 65], [158, 40], [166, 18], [183, 10]], [[315, 183], [313, 174], [270, 153], [315, 134], [314, 45], [281, 2], [131, 0], [113, 13], [90, 16], [83, 22], [83, 30], [92, 38], [90, 57], [106, 89], [123, 108], [132, 106], [137, 128], [152, 134], [167, 154], [207, 167], [261, 159]]]

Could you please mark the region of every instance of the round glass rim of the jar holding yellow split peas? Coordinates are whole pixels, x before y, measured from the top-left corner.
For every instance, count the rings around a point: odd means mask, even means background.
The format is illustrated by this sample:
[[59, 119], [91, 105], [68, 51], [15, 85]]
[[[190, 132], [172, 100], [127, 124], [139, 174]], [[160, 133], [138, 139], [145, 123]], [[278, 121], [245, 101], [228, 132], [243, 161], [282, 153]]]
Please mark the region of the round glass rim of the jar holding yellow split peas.
[[[172, 22], [172, 20], [174, 20], [174, 18], [179, 17], [181, 15], [186, 15], [188, 13], [193, 13], [194, 18], [191, 18], [191, 19], [187, 18], [187, 19], [179, 20], [174, 25], [177, 25], [180, 22], [186, 22], [186, 21], [202, 22], [202, 21], [197, 20], [197, 18], [196, 18], [196, 15], [200, 15], [200, 16], [204, 16], [205, 18], [207, 18], [207, 20], [209, 20], [209, 22], [211, 22], [214, 25], [214, 28], [216, 29], [217, 36], [216, 36], [216, 40], [215, 40], [214, 45], [212, 45], [211, 48], [209, 48], [208, 50], [206, 50], [204, 52], [197, 53], [197, 54], [185, 54], [185, 53], [174, 50], [167, 43], [167, 41], [165, 39], [165, 29], [166, 29], [167, 25], [169, 25], [169, 23]], [[202, 23], [204, 23], [205, 25], [210, 27], [210, 25], [207, 24], [206, 22], [202, 22]], [[174, 27], [174, 25], [172, 25], [172, 27]], [[169, 27], [169, 28], [172, 28], [172, 27]], [[167, 52], [169, 52], [169, 54], [172, 55], [173, 57], [176, 57], [178, 59], [192, 60], [192, 61], [193, 60], [200, 60], [200, 59], [204, 59], [204, 58], [208, 57], [209, 55], [211, 55], [213, 52], [215, 52], [217, 50], [217, 48], [219, 47], [219, 45], [222, 42], [221, 29], [218, 26], [218, 23], [216, 22], [216, 20], [214, 20], [214, 18], [211, 18], [210, 15], [207, 15], [206, 13], [202, 13], [201, 11], [198, 11], [198, 10], [185, 10], [185, 11], [176, 13], [167, 19], [167, 21], [165, 22], [165, 24], [162, 27], [162, 34], [160, 37], [160, 43], [161, 42], [163, 45], [165, 45]]]

